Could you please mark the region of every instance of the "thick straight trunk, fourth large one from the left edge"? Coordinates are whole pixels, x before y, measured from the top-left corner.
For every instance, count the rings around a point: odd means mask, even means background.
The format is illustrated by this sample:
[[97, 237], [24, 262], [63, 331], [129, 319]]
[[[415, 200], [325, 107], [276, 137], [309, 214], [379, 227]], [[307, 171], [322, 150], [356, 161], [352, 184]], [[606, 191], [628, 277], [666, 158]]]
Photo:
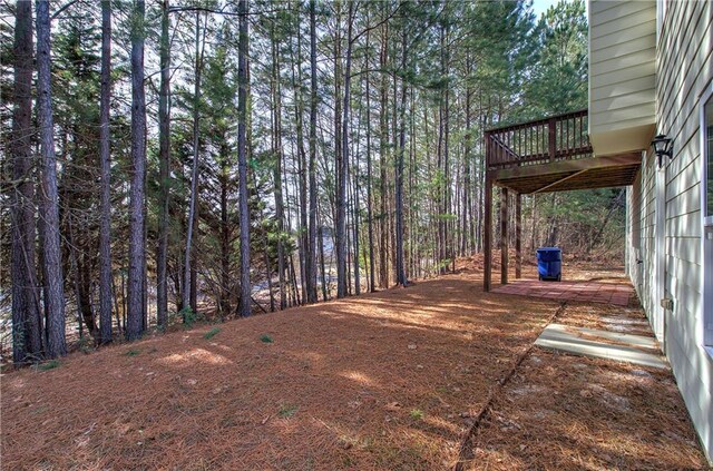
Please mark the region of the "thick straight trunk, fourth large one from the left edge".
[[146, 96], [144, 90], [144, 0], [136, 0], [131, 28], [131, 189], [129, 197], [129, 275], [126, 337], [143, 334], [144, 318], [144, 199], [146, 196]]

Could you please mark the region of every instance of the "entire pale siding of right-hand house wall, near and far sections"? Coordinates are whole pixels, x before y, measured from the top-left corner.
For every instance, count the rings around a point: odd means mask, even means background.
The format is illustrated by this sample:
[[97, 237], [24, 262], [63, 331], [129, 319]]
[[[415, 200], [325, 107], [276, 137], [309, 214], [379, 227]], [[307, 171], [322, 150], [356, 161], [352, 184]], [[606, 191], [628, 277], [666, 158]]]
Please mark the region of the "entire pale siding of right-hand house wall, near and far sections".
[[[701, 95], [713, 80], [713, 2], [668, 1], [656, 47], [656, 128], [674, 139], [665, 189], [655, 192], [656, 158], [647, 155], [627, 192], [627, 272], [656, 330], [655, 208], [663, 206], [665, 313], [663, 345], [709, 460], [713, 458], [713, 360], [703, 338]], [[656, 205], [663, 198], [664, 205]], [[641, 247], [637, 249], [636, 247]], [[637, 259], [643, 263], [637, 264]], [[711, 263], [707, 261], [706, 263]]]

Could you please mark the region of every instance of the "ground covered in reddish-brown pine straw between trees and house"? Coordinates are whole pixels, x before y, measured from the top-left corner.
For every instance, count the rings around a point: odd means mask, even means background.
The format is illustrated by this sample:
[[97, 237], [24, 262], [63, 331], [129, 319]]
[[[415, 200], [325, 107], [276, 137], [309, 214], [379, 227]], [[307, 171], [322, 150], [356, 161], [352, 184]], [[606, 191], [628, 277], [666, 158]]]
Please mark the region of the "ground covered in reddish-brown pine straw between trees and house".
[[635, 302], [486, 294], [478, 262], [6, 373], [2, 468], [706, 468], [668, 371], [533, 346], [555, 315], [598, 326]]

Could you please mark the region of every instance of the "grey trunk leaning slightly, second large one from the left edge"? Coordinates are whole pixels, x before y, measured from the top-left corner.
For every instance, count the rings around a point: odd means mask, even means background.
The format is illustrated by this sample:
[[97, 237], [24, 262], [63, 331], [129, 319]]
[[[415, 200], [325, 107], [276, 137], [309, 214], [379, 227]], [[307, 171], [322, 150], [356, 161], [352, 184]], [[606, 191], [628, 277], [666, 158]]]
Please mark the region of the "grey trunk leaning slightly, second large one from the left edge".
[[49, 2], [37, 2], [37, 120], [41, 148], [42, 267], [45, 274], [45, 315], [47, 317], [47, 356], [67, 353], [65, 341], [65, 286], [59, 234], [59, 195], [57, 156], [52, 119], [50, 71]]

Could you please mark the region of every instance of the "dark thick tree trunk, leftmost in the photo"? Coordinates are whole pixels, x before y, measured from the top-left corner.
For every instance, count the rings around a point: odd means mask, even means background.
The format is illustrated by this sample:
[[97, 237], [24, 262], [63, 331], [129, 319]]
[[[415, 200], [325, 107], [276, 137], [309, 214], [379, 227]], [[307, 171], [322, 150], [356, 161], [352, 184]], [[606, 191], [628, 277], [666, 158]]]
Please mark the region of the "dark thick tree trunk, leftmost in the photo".
[[42, 316], [35, 272], [35, 184], [32, 183], [32, 3], [17, 3], [14, 23], [14, 109], [12, 110], [11, 194], [12, 360], [42, 354]]

